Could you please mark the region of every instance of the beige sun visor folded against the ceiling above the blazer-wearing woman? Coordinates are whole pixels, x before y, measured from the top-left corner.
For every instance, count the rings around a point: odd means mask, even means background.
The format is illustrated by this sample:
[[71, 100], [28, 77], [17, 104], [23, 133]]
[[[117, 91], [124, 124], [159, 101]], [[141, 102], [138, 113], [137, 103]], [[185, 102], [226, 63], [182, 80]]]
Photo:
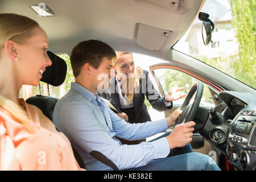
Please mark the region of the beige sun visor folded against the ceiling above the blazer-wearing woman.
[[149, 50], [159, 50], [171, 35], [171, 30], [164, 30], [139, 23], [137, 44]]

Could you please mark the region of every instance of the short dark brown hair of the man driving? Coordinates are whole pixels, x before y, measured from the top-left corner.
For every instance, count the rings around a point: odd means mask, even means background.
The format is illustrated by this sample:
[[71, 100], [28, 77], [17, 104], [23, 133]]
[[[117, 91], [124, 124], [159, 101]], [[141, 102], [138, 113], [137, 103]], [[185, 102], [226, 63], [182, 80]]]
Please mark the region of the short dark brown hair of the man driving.
[[85, 63], [89, 63], [97, 69], [104, 57], [109, 60], [116, 58], [115, 51], [108, 44], [100, 40], [84, 40], [78, 43], [72, 50], [70, 60], [73, 75], [79, 76], [81, 68]]

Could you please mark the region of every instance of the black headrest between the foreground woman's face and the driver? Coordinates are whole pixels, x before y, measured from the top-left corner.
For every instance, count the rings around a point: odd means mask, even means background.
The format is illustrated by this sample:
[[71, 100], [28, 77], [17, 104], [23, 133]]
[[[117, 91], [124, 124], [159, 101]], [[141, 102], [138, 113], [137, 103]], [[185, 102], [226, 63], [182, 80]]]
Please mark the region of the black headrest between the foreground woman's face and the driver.
[[43, 73], [43, 77], [40, 81], [46, 82], [52, 86], [60, 86], [63, 84], [67, 74], [67, 64], [64, 59], [56, 56], [51, 51], [47, 51], [49, 59], [52, 61], [52, 65], [46, 67], [46, 71]]

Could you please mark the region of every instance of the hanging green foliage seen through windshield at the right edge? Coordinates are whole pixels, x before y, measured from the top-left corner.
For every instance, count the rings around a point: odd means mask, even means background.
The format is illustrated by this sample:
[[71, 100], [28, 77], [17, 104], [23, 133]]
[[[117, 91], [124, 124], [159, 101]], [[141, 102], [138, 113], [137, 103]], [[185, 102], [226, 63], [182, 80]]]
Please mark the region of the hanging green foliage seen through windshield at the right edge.
[[234, 75], [238, 80], [256, 89], [256, 1], [229, 1], [232, 26], [240, 44], [237, 61], [233, 62]]

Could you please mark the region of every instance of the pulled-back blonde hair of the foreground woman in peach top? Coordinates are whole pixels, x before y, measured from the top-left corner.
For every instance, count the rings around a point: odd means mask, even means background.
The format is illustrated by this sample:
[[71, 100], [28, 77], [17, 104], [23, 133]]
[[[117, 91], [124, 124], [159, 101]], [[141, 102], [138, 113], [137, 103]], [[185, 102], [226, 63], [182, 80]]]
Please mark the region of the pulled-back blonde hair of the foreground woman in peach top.
[[[26, 38], [32, 36], [31, 30], [37, 26], [39, 24], [35, 20], [26, 16], [0, 14], [0, 51], [5, 46], [7, 40], [23, 43]], [[0, 69], [3, 69], [3, 65], [4, 63], [0, 62]], [[0, 107], [9, 111], [17, 119], [17, 122], [22, 123], [31, 133], [33, 132], [32, 127], [29, 125], [28, 114], [21, 107], [3, 96], [0, 96]]]

